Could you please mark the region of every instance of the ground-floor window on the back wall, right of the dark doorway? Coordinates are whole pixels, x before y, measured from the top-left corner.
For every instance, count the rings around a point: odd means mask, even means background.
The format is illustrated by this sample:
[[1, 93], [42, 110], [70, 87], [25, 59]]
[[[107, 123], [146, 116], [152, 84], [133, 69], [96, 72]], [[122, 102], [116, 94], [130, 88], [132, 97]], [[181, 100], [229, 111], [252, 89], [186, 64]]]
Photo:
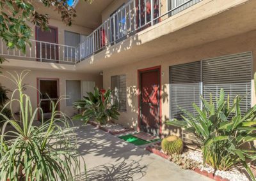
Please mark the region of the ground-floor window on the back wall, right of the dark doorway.
[[66, 80], [66, 103], [67, 106], [72, 106], [75, 101], [81, 99], [81, 81]]

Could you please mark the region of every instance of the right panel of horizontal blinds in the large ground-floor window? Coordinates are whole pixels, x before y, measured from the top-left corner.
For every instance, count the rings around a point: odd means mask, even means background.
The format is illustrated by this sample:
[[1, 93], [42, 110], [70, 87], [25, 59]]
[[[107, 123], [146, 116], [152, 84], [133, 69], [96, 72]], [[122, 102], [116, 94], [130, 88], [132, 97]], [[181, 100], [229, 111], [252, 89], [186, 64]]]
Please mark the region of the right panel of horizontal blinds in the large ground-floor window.
[[[218, 97], [223, 88], [230, 96], [230, 104], [236, 95], [244, 96], [241, 101], [241, 112], [251, 107], [252, 53], [228, 55], [207, 59], [202, 62], [203, 94], [209, 101]], [[215, 101], [215, 99], [213, 99]]]

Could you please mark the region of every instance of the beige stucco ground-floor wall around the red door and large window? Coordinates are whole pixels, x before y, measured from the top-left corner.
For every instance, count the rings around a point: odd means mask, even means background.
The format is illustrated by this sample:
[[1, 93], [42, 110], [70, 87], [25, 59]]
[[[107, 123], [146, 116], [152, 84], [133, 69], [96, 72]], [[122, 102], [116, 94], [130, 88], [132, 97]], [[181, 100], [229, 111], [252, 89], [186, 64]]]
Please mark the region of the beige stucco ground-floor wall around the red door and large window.
[[[145, 59], [144, 61], [127, 64], [111, 69], [104, 69], [104, 88], [111, 87], [111, 76], [126, 74], [127, 78], [127, 112], [121, 113], [118, 122], [137, 129], [138, 123], [138, 69], [150, 68], [161, 65], [161, 84], [162, 84], [162, 122], [169, 119], [169, 66], [183, 64], [186, 62], [200, 61], [221, 55], [237, 54], [241, 52], [253, 52], [256, 55], [256, 31], [246, 34], [232, 36], [223, 40], [213, 41], [205, 45], [180, 50], [172, 54], [161, 55]], [[128, 61], [129, 62], [129, 61]], [[256, 71], [255, 59], [253, 59], [253, 73]], [[253, 87], [253, 86], [252, 86]], [[252, 104], [256, 103], [253, 94]], [[180, 130], [166, 129], [163, 124], [163, 134], [180, 134]]]

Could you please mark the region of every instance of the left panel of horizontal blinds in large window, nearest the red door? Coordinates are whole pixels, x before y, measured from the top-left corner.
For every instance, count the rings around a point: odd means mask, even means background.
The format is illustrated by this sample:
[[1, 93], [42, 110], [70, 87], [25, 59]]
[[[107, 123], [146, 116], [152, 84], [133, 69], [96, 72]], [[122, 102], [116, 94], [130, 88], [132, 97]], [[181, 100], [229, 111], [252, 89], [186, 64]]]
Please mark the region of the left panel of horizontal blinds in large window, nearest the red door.
[[170, 66], [170, 117], [181, 119], [180, 107], [195, 114], [200, 105], [200, 62]]

